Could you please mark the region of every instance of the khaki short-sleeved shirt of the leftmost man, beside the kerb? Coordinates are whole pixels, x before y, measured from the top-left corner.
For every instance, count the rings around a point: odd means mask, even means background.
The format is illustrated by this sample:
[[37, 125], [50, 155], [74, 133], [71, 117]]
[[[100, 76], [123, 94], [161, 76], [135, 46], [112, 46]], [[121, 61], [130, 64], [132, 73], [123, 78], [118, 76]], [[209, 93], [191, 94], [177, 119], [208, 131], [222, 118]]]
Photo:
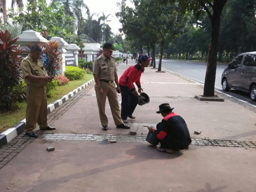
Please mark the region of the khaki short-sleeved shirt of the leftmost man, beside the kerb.
[[45, 70], [45, 67], [43, 67], [43, 62], [38, 60], [34, 60], [33, 58], [28, 55], [25, 57], [21, 62], [21, 70], [23, 73], [23, 77], [25, 79], [25, 83], [27, 85], [33, 86], [33, 87], [43, 87], [46, 86], [46, 82], [43, 81], [29, 81], [26, 79], [29, 75], [35, 75], [38, 77], [45, 77], [47, 75], [47, 72]]

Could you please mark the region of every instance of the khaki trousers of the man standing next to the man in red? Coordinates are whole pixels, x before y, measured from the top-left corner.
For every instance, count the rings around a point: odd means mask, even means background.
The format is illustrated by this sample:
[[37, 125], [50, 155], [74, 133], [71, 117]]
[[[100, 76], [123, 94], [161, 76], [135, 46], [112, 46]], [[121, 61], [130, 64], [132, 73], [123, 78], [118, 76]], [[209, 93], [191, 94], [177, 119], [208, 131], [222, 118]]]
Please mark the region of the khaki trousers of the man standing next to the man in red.
[[109, 105], [115, 125], [117, 126], [123, 124], [117, 99], [117, 90], [115, 89], [115, 83], [107, 83], [103, 81], [100, 81], [99, 83], [101, 84], [101, 88], [104, 91], [103, 95], [100, 95], [98, 93], [98, 88], [96, 87], [96, 85], [94, 86], [94, 89], [97, 97], [101, 125], [104, 126], [108, 123], [107, 115], [105, 114], [106, 98], [109, 99]]

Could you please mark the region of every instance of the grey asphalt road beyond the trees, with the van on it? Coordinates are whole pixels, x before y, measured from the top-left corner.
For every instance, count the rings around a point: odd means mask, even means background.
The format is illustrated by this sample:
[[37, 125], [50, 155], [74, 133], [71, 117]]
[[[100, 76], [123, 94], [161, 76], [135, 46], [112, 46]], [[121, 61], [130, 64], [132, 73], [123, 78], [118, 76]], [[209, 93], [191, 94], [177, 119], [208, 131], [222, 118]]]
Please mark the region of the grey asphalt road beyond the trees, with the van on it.
[[[157, 65], [158, 65], [158, 59]], [[196, 62], [189, 62], [189, 61], [178, 61], [178, 60], [170, 60], [170, 59], [163, 59], [162, 60], [162, 67], [175, 73], [179, 73], [184, 75], [194, 81], [205, 83], [205, 73], [206, 73], [206, 64], [205, 63], [196, 63]], [[221, 85], [221, 75], [223, 70], [226, 66], [218, 65], [216, 71], [216, 79], [215, 79], [215, 89], [222, 91]], [[231, 89], [230, 91], [222, 91], [223, 93], [229, 94], [235, 98], [241, 99], [242, 101], [249, 102], [253, 105], [256, 105], [256, 102], [253, 102], [249, 98], [249, 93], [244, 93], [243, 91], [238, 91]]]

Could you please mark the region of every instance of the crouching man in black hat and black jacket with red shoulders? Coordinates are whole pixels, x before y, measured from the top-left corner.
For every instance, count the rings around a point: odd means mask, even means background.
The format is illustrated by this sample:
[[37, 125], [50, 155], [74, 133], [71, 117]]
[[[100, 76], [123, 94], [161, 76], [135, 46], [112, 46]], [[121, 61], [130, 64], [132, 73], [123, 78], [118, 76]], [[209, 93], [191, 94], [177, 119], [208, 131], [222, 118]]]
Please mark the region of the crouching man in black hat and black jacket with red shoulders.
[[157, 130], [154, 127], [149, 127], [149, 131], [153, 132], [160, 140], [161, 147], [158, 147], [157, 150], [161, 152], [173, 153], [173, 150], [188, 149], [191, 143], [185, 120], [173, 113], [173, 109], [169, 103], [159, 105], [157, 113], [161, 113], [164, 118], [161, 123], [157, 124]]

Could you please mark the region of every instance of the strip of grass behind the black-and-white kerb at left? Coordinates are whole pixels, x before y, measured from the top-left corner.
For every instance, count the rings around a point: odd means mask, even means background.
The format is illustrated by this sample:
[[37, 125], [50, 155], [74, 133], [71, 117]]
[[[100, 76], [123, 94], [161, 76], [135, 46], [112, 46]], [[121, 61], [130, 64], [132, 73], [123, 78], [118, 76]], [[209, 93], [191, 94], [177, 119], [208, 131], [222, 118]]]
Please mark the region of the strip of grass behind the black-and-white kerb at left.
[[[84, 83], [86, 83], [92, 78], [93, 78], [93, 74], [86, 74], [84, 79], [70, 81], [65, 86], [57, 86], [56, 90], [54, 90], [54, 97], [47, 98], [47, 103], [49, 104], [56, 101], [57, 99], [61, 98], [63, 95], [66, 95], [70, 91], [83, 85]], [[26, 102], [17, 103], [16, 107], [13, 110], [0, 113], [0, 133], [16, 125], [22, 119], [25, 119], [26, 106], [27, 106]]]

